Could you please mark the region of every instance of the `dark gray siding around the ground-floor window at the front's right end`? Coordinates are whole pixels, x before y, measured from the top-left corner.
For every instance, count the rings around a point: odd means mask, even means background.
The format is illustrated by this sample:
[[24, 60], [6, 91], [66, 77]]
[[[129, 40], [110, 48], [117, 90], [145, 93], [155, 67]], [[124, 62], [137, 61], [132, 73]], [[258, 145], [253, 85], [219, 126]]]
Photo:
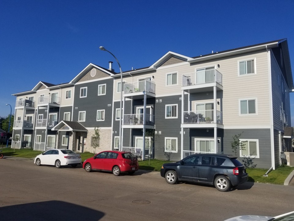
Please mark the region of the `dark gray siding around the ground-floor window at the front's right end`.
[[[233, 136], [241, 134], [240, 139], [258, 139], [259, 144], [259, 158], [253, 159], [253, 164], [256, 168], [269, 169], [271, 164], [271, 142], [270, 129], [226, 129], [223, 137], [223, 151], [224, 154], [233, 155], [231, 142]], [[239, 157], [239, 155], [238, 155]], [[243, 157], [239, 157], [242, 162]]]

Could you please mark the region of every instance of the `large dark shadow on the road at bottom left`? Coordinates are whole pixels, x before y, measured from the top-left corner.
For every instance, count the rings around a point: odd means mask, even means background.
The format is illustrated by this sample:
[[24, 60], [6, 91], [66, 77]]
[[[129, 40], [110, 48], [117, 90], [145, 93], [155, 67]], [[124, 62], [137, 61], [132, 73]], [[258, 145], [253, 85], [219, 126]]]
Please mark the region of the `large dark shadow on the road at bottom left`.
[[45, 201], [0, 207], [2, 221], [99, 220], [103, 212], [62, 201]]

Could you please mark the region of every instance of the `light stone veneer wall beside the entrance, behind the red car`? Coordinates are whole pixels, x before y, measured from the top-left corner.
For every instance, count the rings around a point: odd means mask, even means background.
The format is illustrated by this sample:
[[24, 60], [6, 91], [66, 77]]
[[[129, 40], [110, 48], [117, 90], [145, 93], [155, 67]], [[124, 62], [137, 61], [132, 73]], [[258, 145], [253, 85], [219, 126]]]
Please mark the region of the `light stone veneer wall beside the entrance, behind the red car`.
[[[96, 153], [104, 150], [111, 150], [111, 129], [99, 128], [100, 146], [96, 148]], [[84, 152], [94, 153], [94, 148], [91, 147], [91, 137], [95, 135], [94, 129], [88, 129], [87, 138], [84, 140]]]

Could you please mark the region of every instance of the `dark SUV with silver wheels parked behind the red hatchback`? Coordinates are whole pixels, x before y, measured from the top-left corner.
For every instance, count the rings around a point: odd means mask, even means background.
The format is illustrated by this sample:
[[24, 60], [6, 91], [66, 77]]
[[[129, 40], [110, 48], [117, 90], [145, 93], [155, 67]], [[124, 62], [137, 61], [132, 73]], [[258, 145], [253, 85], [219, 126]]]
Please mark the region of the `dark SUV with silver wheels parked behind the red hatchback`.
[[181, 161], [162, 165], [160, 175], [169, 184], [178, 180], [212, 184], [223, 192], [248, 180], [246, 168], [237, 157], [224, 154], [190, 155]]

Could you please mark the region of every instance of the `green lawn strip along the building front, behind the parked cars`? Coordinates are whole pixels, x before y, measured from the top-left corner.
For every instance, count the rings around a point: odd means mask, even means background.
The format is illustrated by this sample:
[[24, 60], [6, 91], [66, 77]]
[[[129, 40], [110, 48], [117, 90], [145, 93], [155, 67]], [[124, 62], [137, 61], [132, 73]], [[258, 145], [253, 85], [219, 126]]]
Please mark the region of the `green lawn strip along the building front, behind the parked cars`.
[[[11, 148], [1, 148], [2, 153], [5, 156], [12, 156], [12, 157], [26, 157], [26, 158], [33, 158], [36, 157], [38, 154], [42, 153], [42, 151], [36, 151], [32, 149], [11, 149]], [[89, 157], [93, 157], [93, 153], [80, 153], [82, 157], [82, 162]], [[1, 160], [1, 159], [0, 159]], [[160, 171], [161, 166], [164, 163], [168, 163], [169, 161], [164, 160], [156, 160], [150, 159], [145, 161], [139, 161], [140, 169], [142, 170], [150, 170], [150, 171]], [[250, 182], [257, 182], [257, 183], [270, 183], [270, 184], [280, 184], [283, 185], [287, 176], [294, 170], [294, 167], [289, 166], [281, 166], [275, 170], [272, 170], [268, 177], [264, 177], [263, 175], [267, 172], [267, 169], [258, 169], [258, 168], [247, 168], [246, 171], [249, 175]]]

